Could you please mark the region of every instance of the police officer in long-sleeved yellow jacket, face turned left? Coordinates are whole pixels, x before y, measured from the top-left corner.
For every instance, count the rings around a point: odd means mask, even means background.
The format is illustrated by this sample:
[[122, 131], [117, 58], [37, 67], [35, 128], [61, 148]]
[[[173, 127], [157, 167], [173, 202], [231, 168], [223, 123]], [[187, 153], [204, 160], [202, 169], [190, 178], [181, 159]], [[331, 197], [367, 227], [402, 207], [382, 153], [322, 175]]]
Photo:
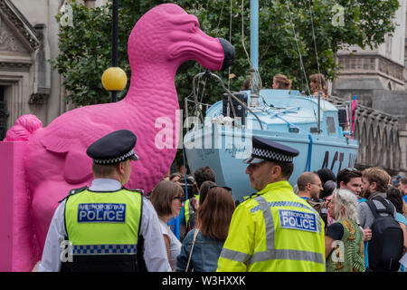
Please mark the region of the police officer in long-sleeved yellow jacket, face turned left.
[[218, 272], [325, 271], [324, 222], [288, 182], [297, 155], [253, 136], [244, 162], [258, 192], [235, 209]]

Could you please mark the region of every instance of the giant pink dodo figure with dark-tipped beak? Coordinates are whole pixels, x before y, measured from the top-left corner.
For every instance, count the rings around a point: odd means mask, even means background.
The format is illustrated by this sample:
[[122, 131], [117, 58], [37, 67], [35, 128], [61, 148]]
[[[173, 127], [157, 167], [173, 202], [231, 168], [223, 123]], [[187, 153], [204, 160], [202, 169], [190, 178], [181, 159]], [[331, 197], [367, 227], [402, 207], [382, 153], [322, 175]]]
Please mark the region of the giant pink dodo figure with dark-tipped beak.
[[[127, 187], [150, 191], [170, 168], [178, 145], [177, 68], [187, 60], [195, 60], [207, 69], [219, 71], [228, 67], [233, 57], [232, 45], [204, 34], [194, 15], [178, 5], [158, 5], [137, 21], [129, 36], [132, 73], [128, 94], [122, 101], [68, 111], [45, 128], [33, 115], [20, 117], [5, 140], [28, 140], [26, 178], [19, 182], [27, 184], [28, 193], [21, 194], [29, 195], [31, 212], [24, 213], [18, 222], [31, 222], [33, 233], [19, 237], [26, 237], [24, 245], [38, 250], [27, 261], [41, 259], [58, 201], [70, 189], [90, 185], [92, 160], [86, 149], [93, 141], [111, 131], [133, 131], [139, 160], [132, 162]], [[168, 123], [157, 126], [157, 120]], [[166, 136], [174, 136], [173, 140], [157, 138], [163, 136], [163, 131], [168, 132]], [[162, 149], [162, 144], [172, 146]]]

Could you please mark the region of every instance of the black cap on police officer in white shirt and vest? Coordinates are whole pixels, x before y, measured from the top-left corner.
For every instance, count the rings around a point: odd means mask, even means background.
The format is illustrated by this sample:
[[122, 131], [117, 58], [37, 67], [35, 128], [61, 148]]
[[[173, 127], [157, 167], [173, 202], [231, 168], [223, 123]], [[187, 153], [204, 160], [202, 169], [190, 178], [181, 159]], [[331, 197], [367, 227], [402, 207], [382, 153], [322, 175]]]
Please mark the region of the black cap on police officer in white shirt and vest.
[[134, 152], [136, 135], [128, 130], [113, 131], [93, 142], [86, 153], [95, 164], [109, 165], [125, 160], [138, 160]]

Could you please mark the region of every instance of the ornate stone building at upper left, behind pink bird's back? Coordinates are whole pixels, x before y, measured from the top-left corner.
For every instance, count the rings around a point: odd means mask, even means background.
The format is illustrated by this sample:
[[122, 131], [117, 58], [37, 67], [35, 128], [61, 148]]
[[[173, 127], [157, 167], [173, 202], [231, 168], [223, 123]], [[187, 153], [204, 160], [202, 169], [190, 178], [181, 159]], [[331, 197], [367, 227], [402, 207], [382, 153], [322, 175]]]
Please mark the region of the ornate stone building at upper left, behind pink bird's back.
[[[48, 125], [71, 109], [62, 76], [50, 60], [58, 54], [55, 15], [66, 0], [0, 0], [0, 140], [23, 114]], [[82, 1], [94, 7], [104, 0]]]

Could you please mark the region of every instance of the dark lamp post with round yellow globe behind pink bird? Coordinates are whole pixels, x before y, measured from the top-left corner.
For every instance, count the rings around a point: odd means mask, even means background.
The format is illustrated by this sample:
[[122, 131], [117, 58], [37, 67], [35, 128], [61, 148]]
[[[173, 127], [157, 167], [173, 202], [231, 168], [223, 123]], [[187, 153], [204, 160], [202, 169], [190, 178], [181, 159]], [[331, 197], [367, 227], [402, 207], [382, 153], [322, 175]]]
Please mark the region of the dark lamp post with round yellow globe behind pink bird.
[[113, 0], [111, 34], [111, 67], [103, 72], [101, 82], [105, 90], [111, 92], [111, 102], [118, 102], [118, 91], [128, 83], [126, 73], [118, 67], [118, 0]]

